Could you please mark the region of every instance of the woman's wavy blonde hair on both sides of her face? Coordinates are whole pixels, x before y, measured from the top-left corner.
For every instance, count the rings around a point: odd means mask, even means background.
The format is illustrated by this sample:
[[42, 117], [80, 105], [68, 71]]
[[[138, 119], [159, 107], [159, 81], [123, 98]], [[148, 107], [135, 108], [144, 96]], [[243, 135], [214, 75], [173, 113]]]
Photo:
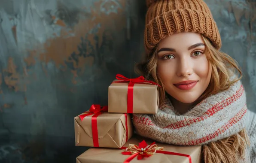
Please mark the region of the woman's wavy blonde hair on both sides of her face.
[[[219, 91], [229, 89], [229, 87], [242, 78], [242, 72], [238, 67], [237, 62], [228, 54], [217, 50], [203, 35], [201, 35], [205, 48], [205, 55], [210, 65], [212, 66], [212, 74], [210, 78], [210, 84], [204, 93], [198, 98], [198, 101], [209, 97], [212, 94], [216, 94]], [[139, 75], [143, 75], [147, 80], [152, 80], [158, 85], [159, 88], [159, 106], [162, 105], [166, 96], [163, 82], [157, 74], [157, 49], [158, 45], [154, 48], [153, 52], [146, 56], [146, 60], [136, 64], [135, 72]], [[235, 78], [231, 79], [231, 76]]]

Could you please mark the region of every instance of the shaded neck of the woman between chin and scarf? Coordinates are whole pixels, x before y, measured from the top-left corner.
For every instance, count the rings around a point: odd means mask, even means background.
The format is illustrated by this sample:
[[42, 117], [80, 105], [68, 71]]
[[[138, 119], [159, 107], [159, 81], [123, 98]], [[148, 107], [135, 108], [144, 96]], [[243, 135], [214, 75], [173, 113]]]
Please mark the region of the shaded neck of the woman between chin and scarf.
[[194, 103], [182, 103], [173, 97], [169, 97], [169, 99], [171, 100], [171, 103], [174, 106], [174, 109], [177, 110], [177, 112], [179, 112], [181, 115], [188, 112], [196, 104], [195, 102]]

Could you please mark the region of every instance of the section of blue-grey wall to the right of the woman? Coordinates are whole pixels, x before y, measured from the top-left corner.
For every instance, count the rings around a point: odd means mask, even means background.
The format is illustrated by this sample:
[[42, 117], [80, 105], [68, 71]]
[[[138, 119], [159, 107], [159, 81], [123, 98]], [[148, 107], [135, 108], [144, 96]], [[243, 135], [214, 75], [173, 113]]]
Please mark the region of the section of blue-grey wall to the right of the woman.
[[238, 61], [247, 107], [256, 112], [256, 0], [205, 0], [222, 39], [221, 50]]

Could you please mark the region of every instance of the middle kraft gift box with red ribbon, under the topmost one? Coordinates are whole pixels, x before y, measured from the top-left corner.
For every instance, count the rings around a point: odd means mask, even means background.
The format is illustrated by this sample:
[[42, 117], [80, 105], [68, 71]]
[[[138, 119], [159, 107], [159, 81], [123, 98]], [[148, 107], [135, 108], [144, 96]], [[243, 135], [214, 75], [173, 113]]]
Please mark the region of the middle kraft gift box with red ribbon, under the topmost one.
[[92, 105], [74, 118], [76, 146], [121, 148], [133, 135], [131, 117]]

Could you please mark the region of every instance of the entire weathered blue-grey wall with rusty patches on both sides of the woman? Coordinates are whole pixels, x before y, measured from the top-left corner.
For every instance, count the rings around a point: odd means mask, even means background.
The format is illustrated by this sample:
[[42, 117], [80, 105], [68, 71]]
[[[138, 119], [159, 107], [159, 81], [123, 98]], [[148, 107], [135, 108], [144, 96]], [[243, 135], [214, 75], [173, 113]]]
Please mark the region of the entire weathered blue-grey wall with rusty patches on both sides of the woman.
[[[256, 3], [206, 0], [256, 112]], [[0, 0], [0, 162], [75, 162], [73, 117], [143, 56], [144, 0]]]

